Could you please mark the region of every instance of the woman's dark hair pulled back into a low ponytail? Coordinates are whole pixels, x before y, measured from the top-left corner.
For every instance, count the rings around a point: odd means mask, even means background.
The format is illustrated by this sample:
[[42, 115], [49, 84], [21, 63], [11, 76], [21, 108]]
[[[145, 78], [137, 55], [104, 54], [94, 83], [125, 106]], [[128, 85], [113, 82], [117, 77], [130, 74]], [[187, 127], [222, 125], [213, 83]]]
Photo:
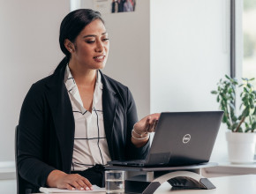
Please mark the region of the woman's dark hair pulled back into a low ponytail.
[[74, 42], [85, 26], [94, 21], [94, 19], [101, 19], [104, 24], [101, 13], [90, 9], [75, 10], [64, 17], [59, 30], [59, 45], [65, 57], [57, 65], [55, 72], [64, 67], [70, 61], [71, 54], [65, 48], [64, 40], [68, 39]]

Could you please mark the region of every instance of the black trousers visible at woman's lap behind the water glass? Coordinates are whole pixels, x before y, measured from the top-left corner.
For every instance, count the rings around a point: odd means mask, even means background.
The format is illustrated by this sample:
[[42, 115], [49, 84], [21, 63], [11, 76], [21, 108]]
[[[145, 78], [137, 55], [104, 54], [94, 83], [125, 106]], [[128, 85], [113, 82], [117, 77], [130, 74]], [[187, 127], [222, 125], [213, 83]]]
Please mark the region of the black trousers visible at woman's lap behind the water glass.
[[72, 171], [72, 174], [79, 174], [86, 177], [90, 183], [96, 184], [99, 187], [105, 187], [105, 168], [101, 164], [96, 164], [92, 168], [87, 168], [84, 171]]

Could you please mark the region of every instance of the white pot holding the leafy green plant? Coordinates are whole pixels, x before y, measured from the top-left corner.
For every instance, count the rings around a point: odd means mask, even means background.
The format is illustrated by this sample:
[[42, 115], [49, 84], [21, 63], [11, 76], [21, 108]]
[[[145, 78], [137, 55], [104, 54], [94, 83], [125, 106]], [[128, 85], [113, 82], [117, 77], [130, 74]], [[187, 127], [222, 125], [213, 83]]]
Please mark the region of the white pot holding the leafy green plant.
[[252, 163], [254, 161], [256, 133], [226, 132], [231, 163]]

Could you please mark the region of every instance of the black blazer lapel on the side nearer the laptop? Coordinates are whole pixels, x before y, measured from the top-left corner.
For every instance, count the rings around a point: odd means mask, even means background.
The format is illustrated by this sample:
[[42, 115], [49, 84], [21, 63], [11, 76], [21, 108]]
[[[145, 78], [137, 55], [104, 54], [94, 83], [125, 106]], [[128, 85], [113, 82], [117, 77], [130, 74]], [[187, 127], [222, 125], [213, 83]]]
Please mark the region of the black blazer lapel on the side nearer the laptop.
[[[102, 74], [102, 71], [100, 71]], [[103, 108], [103, 120], [104, 128], [106, 133], [106, 138], [109, 146], [109, 153], [112, 159], [115, 158], [113, 141], [113, 127], [116, 117], [117, 109], [117, 96], [114, 92], [112, 86], [110, 86], [109, 81], [102, 74], [102, 108]]]

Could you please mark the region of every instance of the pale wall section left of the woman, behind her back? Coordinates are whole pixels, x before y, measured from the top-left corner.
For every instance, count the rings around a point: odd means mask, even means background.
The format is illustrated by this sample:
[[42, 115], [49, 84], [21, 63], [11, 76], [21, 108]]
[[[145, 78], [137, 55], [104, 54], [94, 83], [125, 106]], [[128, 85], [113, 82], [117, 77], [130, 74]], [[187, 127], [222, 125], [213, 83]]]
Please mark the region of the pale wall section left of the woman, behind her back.
[[14, 128], [29, 87], [63, 57], [58, 46], [68, 0], [0, 1], [0, 161], [14, 160]]

